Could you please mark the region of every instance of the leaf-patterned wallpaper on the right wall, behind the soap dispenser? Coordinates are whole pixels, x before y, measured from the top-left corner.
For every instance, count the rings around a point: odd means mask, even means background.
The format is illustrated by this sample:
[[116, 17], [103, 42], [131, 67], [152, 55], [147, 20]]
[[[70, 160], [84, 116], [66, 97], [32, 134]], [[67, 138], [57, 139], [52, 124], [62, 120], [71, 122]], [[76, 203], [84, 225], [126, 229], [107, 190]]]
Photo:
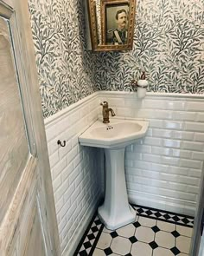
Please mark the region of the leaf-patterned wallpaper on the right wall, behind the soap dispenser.
[[149, 91], [204, 93], [203, 10], [203, 0], [137, 0], [133, 50], [99, 54], [98, 88], [132, 90], [146, 70]]

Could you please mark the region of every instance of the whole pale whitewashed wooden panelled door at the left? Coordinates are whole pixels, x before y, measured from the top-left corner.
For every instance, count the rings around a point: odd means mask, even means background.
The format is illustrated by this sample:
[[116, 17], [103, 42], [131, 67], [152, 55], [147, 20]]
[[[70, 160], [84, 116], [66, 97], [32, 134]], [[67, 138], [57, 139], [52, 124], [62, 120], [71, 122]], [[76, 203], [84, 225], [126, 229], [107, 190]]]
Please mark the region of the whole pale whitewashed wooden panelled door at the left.
[[0, 255], [60, 255], [26, 0], [0, 0]]

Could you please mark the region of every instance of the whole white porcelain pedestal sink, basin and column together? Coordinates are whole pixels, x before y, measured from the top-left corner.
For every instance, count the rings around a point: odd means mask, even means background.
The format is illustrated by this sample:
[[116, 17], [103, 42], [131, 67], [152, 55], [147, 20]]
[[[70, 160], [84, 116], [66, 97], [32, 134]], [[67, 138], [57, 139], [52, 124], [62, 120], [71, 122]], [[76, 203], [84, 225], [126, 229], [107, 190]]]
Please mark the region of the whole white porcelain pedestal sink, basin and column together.
[[148, 121], [112, 119], [101, 120], [80, 135], [82, 146], [105, 148], [105, 202], [99, 207], [99, 217], [108, 229], [115, 230], [135, 220], [136, 214], [129, 205], [124, 176], [124, 149], [143, 137]]

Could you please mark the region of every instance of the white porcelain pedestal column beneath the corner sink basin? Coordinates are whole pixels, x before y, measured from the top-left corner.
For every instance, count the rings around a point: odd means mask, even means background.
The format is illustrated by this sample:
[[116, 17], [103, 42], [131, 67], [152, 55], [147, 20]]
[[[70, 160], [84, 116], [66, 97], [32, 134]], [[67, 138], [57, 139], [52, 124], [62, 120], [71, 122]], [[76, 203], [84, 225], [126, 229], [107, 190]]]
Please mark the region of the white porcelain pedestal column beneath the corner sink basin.
[[99, 207], [99, 217], [108, 229], [115, 230], [136, 219], [129, 205], [124, 176], [124, 148], [105, 148], [105, 202]]

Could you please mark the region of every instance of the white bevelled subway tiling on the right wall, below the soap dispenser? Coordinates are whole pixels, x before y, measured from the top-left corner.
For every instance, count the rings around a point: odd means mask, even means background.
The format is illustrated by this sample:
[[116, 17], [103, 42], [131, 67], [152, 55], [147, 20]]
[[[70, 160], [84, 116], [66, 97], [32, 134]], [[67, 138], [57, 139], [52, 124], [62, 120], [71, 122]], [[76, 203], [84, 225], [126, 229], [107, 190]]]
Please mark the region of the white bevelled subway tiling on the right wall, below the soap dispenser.
[[194, 215], [204, 161], [201, 96], [100, 92], [117, 117], [150, 121], [147, 135], [126, 149], [131, 202]]

